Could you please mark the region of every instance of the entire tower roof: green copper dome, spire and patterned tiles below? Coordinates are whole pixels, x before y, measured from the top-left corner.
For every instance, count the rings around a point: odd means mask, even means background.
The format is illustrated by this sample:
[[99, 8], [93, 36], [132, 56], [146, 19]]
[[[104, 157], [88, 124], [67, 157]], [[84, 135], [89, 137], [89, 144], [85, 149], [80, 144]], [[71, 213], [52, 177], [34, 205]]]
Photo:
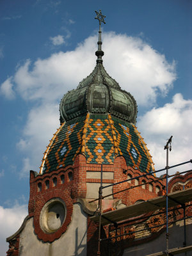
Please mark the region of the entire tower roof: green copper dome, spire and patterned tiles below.
[[45, 151], [40, 173], [73, 164], [77, 154], [83, 154], [90, 164], [113, 164], [116, 157], [123, 156], [127, 166], [141, 172], [154, 170], [135, 126], [136, 101], [121, 90], [102, 65], [100, 28], [97, 44], [93, 72], [61, 99], [61, 127]]

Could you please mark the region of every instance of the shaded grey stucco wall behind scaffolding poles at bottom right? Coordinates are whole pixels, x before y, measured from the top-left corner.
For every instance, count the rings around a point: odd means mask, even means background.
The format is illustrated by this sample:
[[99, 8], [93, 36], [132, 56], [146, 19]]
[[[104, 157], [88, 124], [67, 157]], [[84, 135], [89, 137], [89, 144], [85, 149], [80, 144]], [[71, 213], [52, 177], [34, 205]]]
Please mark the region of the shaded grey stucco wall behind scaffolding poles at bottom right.
[[[192, 219], [186, 220], [186, 237], [187, 246], [191, 245], [192, 237]], [[169, 248], [182, 247], [184, 242], [184, 226], [183, 221], [177, 222], [169, 228]], [[124, 250], [123, 256], [144, 256], [156, 252], [164, 252], [166, 250], [166, 232], [163, 232], [156, 239], [150, 241], [149, 243], [143, 243], [138, 246], [131, 246]], [[180, 253], [178, 256], [191, 256], [192, 252]]]

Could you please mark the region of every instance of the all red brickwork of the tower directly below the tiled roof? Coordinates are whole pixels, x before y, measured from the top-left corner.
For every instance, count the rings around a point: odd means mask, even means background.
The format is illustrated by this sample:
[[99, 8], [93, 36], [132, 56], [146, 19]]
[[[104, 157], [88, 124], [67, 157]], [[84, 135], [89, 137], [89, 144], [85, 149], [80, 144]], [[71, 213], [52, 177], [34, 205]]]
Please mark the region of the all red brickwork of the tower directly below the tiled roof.
[[[66, 168], [60, 168], [51, 173], [45, 173], [44, 175], [37, 175], [31, 171], [30, 175], [30, 198], [29, 198], [29, 216], [34, 216], [34, 226], [35, 233], [39, 239], [43, 241], [52, 242], [55, 239], [58, 239], [63, 232], [67, 230], [67, 225], [70, 223], [72, 216], [72, 205], [76, 202], [77, 198], [86, 198], [86, 184], [90, 183], [99, 183], [100, 179], [86, 179], [86, 172], [100, 172], [100, 164], [87, 164], [86, 158], [79, 154], [74, 160], [72, 166], [67, 166]], [[105, 179], [103, 180], [104, 184], [120, 182], [126, 180], [127, 175], [135, 177], [141, 175], [139, 170], [134, 170], [131, 167], [127, 167], [124, 157], [116, 157], [114, 164], [104, 164], [103, 172], [113, 172], [114, 179]], [[68, 174], [72, 173], [72, 180], [69, 179]], [[62, 176], [65, 177], [64, 182], [62, 182]], [[54, 178], [56, 179], [56, 184], [54, 184]], [[153, 175], [148, 175], [138, 180], [138, 184], [141, 184], [143, 180], [145, 182], [150, 180], [156, 180], [156, 177]], [[46, 185], [46, 182], [49, 182], [49, 186]], [[129, 188], [134, 186], [134, 180], [125, 182], [123, 184], [118, 184], [113, 187], [113, 193], [120, 191], [122, 189]], [[122, 200], [122, 203], [125, 205], [134, 204], [137, 200], [148, 200], [157, 196], [155, 186], [158, 184], [161, 189], [164, 185], [164, 182], [158, 181], [154, 182], [152, 191], [149, 191], [148, 184], [144, 184], [145, 188], [134, 188], [122, 193], [114, 195], [114, 199]], [[51, 200], [51, 198], [61, 198], [67, 207], [67, 217], [62, 225], [62, 227], [52, 234], [45, 234], [45, 232], [40, 228], [40, 212], [44, 205]]]

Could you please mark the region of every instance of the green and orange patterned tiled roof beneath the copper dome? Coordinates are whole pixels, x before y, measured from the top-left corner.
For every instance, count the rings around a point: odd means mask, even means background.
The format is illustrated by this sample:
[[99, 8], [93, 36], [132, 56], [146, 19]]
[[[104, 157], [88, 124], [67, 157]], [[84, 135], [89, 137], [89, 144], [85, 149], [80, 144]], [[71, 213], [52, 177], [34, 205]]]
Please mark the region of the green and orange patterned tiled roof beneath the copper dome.
[[141, 172], [153, 170], [151, 156], [136, 127], [109, 114], [88, 113], [61, 125], [45, 151], [42, 172], [72, 164], [79, 153], [90, 164], [113, 164], [115, 157], [124, 156], [127, 166]]

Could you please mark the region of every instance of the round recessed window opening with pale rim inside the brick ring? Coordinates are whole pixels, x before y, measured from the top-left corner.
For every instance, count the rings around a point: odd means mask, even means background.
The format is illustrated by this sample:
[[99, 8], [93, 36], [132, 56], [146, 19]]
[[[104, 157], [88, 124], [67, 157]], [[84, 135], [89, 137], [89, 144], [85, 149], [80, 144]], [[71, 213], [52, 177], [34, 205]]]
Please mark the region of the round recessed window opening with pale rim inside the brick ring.
[[40, 227], [44, 232], [56, 232], [65, 221], [65, 202], [60, 198], [54, 198], [47, 202], [40, 213]]

